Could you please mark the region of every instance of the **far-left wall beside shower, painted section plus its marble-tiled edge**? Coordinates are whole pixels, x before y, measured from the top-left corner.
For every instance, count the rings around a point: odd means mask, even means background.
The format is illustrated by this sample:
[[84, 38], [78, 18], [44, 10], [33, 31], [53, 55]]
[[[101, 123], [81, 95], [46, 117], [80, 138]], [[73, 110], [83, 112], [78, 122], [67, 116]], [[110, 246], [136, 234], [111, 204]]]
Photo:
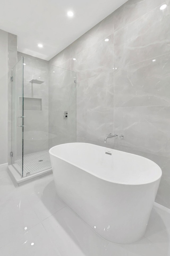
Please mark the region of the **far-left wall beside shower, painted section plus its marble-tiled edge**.
[[0, 164], [10, 162], [11, 69], [17, 61], [17, 36], [0, 30]]

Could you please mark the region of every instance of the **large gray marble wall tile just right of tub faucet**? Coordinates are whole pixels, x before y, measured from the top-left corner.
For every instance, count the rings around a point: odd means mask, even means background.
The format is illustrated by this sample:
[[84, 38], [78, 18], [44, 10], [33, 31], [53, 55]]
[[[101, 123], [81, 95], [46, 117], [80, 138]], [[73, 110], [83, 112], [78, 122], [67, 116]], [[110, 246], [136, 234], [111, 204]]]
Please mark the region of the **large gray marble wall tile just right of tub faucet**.
[[114, 108], [120, 146], [170, 157], [170, 106]]

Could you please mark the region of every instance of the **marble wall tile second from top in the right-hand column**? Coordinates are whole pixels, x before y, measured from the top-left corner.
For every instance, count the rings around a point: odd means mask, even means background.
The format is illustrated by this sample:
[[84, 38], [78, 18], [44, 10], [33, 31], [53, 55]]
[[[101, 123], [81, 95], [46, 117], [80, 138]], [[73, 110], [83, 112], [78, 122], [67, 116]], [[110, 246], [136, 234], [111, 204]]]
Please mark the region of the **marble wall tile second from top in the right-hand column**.
[[114, 66], [125, 67], [170, 52], [170, 6], [146, 13], [114, 33]]

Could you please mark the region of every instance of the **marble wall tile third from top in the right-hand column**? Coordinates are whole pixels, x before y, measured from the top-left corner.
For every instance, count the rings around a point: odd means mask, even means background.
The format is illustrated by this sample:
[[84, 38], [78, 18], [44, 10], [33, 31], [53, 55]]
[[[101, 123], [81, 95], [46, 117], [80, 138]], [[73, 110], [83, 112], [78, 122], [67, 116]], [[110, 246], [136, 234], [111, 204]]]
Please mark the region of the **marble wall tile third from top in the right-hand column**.
[[170, 54], [114, 71], [114, 107], [170, 105]]

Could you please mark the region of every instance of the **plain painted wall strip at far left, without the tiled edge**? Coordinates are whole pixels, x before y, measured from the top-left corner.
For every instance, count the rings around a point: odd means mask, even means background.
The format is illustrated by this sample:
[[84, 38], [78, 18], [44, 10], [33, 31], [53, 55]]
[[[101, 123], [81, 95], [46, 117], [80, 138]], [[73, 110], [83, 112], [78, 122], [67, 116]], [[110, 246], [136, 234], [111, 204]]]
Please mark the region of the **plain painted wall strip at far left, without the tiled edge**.
[[0, 30], [0, 164], [7, 163], [8, 146], [8, 33]]

